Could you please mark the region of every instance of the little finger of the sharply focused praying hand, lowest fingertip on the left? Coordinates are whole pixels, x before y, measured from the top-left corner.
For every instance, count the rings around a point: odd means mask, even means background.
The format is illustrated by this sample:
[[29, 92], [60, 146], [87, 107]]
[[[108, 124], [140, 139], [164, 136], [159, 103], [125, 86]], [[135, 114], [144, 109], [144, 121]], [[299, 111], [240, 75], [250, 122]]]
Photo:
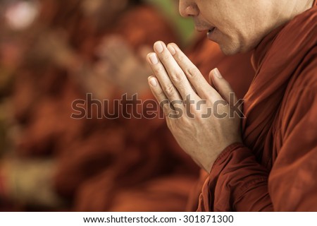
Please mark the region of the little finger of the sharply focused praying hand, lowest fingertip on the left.
[[173, 114], [174, 109], [173, 105], [170, 105], [170, 101], [168, 97], [166, 97], [163, 92], [159, 81], [154, 76], [149, 76], [149, 87], [151, 88], [151, 92], [153, 93], [156, 100], [159, 102], [159, 105], [162, 107], [164, 114], [168, 117], [169, 114]]

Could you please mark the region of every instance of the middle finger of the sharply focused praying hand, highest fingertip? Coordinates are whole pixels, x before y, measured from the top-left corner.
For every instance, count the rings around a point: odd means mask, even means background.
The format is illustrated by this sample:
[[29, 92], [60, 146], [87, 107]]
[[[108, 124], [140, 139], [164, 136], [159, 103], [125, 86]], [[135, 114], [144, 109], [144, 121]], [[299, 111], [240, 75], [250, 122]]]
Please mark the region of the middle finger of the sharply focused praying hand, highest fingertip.
[[173, 58], [172, 54], [168, 51], [166, 44], [159, 41], [154, 44], [154, 50], [159, 57], [161, 63], [165, 67], [170, 81], [172, 81], [175, 88], [182, 96], [182, 100], [185, 100], [188, 95], [198, 99], [197, 94], [190, 85], [184, 71], [180, 68], [178, 63]]

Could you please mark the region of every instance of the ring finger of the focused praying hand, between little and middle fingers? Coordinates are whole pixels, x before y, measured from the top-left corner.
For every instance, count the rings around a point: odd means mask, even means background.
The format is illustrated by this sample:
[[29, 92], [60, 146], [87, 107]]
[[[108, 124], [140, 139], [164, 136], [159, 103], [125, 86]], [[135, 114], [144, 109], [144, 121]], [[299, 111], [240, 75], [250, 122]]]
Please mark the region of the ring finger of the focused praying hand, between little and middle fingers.
[[151, 69], [155, 77], [158, 79], [163, 93], [165, 93], [168, 100], [170, 102], [182, 100], [180, 93], [178, 93], [178, 90], [175, 88], [172, 81], [170, 81], [168, 73], [166, 72], [166, 69], [164, 68], [161, 61], [159, 61], [157, 55], [154, 52], [148, 54], [147, 61], [149, 62], [149, 66], [151, 66]]

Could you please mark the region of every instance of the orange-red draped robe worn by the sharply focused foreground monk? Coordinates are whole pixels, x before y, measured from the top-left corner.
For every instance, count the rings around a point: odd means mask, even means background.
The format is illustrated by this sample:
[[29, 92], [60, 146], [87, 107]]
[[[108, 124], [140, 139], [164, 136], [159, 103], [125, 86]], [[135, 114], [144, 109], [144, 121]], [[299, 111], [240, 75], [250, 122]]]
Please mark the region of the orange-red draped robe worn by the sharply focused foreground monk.
[[213, 164], [199, 211], [317, 210], [316, 21], [315, 3], [254, 50], [244, 143]]

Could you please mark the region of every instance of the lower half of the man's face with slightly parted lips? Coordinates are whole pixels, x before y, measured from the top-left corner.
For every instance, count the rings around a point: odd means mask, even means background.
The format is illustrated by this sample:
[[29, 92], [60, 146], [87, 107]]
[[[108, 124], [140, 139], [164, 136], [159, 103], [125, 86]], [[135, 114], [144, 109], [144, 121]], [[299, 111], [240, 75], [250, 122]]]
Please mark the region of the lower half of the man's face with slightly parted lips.
[[[268, 0], [180, 0], [180, 14], [194, 19], [225, 54], [253, 49], [272, 27]], [[271, 16], [270, 16], [271, 15]]]

